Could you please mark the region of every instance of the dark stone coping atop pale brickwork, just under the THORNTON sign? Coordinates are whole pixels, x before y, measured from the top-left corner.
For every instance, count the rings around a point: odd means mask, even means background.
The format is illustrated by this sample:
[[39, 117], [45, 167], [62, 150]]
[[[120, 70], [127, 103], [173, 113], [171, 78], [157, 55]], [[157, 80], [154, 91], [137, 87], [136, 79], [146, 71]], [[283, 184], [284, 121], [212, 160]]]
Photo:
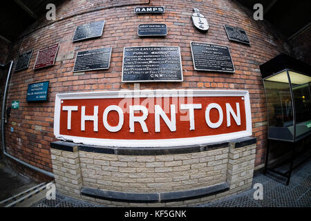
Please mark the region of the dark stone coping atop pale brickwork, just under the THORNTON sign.
[[218, 148], [228, 147], [231, 144], [234, 148], [256, 144], [256, 137], [242, 137], [234, 140], [211, 143], [196, 144], [185, 146], [168, 147], [113, 147], [113, 146], [92, 146], [85, 144], [75, 144], [73, 142], [56, 141], [51, 142], [50, 147], [61, 151], [75, 152], [86, 151], [93, 153], [106, 153], [115, 155], [171, 155], [183, 153], [198, 153], [202, 151], [211, 151]]

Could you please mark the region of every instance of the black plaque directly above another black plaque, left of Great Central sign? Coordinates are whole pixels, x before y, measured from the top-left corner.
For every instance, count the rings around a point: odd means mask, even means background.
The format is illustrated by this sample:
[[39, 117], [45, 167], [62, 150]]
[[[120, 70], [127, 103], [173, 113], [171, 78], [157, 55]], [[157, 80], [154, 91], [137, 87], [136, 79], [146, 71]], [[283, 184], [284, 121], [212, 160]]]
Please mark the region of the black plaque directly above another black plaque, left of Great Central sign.
[[73, 41], [81, 41], [102, 36], [104, 24], [105, 21], [95, 21], [77, 26], [77, 28], [75, 28], [75, 34], [73, 35]]

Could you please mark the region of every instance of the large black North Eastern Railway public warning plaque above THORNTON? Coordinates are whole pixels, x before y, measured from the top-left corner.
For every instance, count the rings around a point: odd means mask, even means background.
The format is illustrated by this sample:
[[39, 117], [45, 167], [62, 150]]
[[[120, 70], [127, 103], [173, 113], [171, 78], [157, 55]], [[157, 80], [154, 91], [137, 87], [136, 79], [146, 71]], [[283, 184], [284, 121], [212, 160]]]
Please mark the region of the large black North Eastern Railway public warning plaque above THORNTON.
[[182, 81], [180, 48], [173, 46], [126, 47], [122, 82]]

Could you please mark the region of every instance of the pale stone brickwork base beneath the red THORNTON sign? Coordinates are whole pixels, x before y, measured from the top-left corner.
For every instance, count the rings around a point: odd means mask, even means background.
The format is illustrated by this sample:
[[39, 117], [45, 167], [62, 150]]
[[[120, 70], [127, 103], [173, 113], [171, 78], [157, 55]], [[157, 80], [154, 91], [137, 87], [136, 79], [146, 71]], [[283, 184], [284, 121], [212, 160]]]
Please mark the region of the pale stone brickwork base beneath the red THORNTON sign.
[[[109, 206], [193, 206], [252, 186], [256, 144], [176, 155], [113, 155], [51, 149], [57, 191]], [[227, 182], [229, 191], [195, 200], [129, 203], [80, 195], [82, 187], [124, 193], [187, 191]]]

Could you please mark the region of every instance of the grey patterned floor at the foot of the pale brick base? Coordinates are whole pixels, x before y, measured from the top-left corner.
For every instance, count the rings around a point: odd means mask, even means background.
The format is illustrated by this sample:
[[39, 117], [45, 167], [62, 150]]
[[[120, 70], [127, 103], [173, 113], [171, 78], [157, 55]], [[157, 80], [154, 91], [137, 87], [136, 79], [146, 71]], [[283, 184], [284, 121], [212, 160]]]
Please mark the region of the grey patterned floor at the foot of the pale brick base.
[[[286, 169], [285, 165], [282, 169]], [[263, 200], [254, 200], [255, 189], [249, 189], [223, 200], [201, 204], [199, 207], [310, 207], [311, 206], [311, 160], [308, 160], [292, 173], [290, 184], [285, 186], [271, 175], [257, 173], [253, 186], [263, 184]], [[40, 200], [35, 207], [99, 207], [100, 205], [56, 195], [56, 200]]]

